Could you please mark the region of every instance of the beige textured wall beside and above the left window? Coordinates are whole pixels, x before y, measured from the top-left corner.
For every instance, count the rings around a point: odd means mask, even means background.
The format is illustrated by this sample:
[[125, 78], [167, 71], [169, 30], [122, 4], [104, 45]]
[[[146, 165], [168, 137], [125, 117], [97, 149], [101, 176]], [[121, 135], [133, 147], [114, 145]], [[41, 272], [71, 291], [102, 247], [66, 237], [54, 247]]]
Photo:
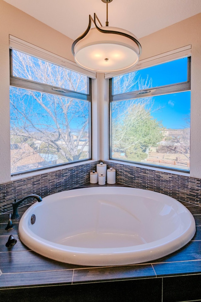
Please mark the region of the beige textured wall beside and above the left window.
[[10, 181], [9, 34], [74, 61], [72, 39], [0, 0], [0, 183]]

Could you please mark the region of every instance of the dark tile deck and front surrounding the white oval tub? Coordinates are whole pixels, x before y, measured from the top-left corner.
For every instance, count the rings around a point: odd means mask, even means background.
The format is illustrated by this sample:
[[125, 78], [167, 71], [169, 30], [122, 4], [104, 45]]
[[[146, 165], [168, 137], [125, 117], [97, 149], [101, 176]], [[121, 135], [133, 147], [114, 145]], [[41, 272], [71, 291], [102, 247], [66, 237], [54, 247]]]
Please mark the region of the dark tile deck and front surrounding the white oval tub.
[[[182, 202], [193, 214], [196, 234], [182, 249], [137, 265], [86, 267], [61, 263], [28, 249], [0, 215], [0, 301], [201, 301], [201, 207]], [[12, 234], [17, 243], [5, 246]]]

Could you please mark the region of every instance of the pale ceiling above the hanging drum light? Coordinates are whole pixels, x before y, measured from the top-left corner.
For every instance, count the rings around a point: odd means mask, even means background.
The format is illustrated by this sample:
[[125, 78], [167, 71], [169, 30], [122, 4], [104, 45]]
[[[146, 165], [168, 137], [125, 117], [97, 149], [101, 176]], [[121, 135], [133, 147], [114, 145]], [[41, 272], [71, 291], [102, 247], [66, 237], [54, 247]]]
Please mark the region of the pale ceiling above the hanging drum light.
[[[101, 0], [4, 0], [75, 40], [87, 28], [89, 14], [106, 21]], [[131, 31], [138, 38], [201, 12], [201, 0], [114, 0], [108, 4], [109, 26]]]

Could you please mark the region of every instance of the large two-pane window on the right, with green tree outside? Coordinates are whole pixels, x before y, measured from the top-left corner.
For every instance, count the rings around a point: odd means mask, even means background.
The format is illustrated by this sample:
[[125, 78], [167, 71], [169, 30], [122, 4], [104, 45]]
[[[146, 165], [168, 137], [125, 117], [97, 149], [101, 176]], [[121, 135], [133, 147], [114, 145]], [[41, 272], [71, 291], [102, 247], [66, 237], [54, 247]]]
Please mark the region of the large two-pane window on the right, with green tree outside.
[[190, 57], [110, 79], [110, 159], [190, 170]]

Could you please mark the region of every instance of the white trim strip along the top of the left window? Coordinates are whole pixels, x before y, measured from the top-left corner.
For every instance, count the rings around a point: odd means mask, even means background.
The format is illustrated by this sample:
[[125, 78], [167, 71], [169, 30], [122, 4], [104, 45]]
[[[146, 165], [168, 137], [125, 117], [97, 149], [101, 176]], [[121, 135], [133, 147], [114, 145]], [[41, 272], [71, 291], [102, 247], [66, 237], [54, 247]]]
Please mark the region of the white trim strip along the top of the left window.
[[96, 78], [96, 72], [85, 70], [85, 69], [79, 67], [75, 62], [62, 58], [55, 53], [51, 53], [45, 49], [42, 49], [38, 46], [35, 46], [31, 43], [21, 40], [17, 37], [9, 35], [9, 46], [11, 49], [19, 50], [23, 53], [32, 55], [39, 59], [43, 59], [50, 63], [54, 63], [57, 65], [66, 67], [69, 70], [76, 71], [76, 72], [81, 73], [84, 76], [88, 76], [92, 79]]

